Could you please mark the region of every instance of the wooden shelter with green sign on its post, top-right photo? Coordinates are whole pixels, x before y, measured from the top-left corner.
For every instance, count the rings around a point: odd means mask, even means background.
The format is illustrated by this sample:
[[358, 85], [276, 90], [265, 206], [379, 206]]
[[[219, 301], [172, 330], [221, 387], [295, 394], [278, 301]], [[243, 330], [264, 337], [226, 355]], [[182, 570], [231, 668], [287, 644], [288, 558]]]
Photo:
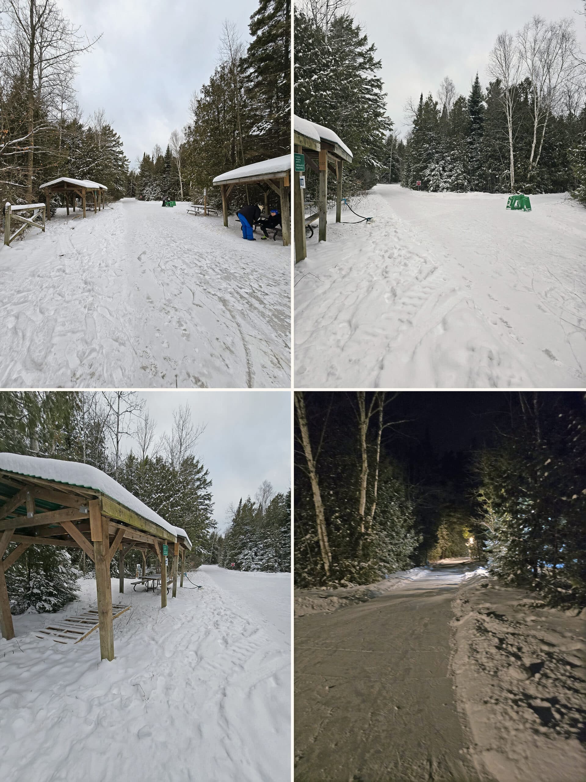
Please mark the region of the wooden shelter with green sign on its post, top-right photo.
[[320, 219], [319, 241], [326, 241], [327, 228], [327, 172], [331, 170], [338, 181], [336, 192], [336, 222], [341, 222], [341, 185], [344, 161], [352, 163], [348, 149], [337, 133], [329, 127], [293, 117], [293, 149], [305, 156], [306, 164], [320, 177], [318, 211], [306, 218], [304, 192], [299, 184], [301, 172], [295, 171], [295, 260], [307, 256], [306, 222]]

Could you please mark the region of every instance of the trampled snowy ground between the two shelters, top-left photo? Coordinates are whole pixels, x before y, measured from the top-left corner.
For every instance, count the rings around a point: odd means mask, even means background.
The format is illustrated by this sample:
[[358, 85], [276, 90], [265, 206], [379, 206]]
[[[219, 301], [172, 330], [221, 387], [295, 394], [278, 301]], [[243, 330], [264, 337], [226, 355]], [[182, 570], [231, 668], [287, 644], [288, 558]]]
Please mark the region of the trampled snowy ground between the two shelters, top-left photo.
[[290, 248], [122, 199], [0, 248], [0, 387], [290, 385]]

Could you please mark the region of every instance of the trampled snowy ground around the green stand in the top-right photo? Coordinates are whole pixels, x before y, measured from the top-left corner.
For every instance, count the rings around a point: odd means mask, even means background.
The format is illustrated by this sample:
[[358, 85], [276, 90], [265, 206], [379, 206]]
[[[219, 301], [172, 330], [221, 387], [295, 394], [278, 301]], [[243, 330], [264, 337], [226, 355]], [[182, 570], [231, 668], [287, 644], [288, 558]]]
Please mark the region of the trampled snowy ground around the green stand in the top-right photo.
[[[295, 269], [295, 384], [581, 387], [586, 210], [378, 185]], [[345, 221], [358, 221], [351, 212]]]

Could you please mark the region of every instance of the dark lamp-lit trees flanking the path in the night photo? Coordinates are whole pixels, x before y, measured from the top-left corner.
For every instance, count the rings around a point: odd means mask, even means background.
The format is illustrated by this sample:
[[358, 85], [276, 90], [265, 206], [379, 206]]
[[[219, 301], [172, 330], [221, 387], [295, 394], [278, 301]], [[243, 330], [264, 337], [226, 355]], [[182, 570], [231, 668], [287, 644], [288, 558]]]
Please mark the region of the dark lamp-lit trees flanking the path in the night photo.
[[297, 586], [470, 556], [552, 604], [584, 604], [586, 396], [510, 393], [483, 443], [441, 458], [398, 396], [295, 393]]

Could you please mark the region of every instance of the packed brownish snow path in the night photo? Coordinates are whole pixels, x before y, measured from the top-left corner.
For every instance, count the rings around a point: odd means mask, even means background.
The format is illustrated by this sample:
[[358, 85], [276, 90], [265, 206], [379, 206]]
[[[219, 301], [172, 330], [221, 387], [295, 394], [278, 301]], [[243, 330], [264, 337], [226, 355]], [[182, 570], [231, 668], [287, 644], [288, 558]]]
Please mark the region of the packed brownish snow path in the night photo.
[[296, 779], [479, 780], [448, 674], [465, 572], [440, 565], [366, 603], [295, 619]]

